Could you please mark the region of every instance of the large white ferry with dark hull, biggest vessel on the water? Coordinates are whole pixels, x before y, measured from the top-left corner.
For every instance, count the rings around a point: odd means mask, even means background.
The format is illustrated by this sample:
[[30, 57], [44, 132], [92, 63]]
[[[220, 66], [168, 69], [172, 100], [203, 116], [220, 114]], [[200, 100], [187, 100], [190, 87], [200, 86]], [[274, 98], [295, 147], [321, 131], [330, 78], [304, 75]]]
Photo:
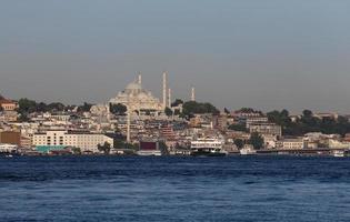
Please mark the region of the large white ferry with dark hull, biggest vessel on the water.
[[228, 152], [222, 149], [223, 140], [220, 138], [199, 138], [191, 141], [192, 157], [226, 157]]

